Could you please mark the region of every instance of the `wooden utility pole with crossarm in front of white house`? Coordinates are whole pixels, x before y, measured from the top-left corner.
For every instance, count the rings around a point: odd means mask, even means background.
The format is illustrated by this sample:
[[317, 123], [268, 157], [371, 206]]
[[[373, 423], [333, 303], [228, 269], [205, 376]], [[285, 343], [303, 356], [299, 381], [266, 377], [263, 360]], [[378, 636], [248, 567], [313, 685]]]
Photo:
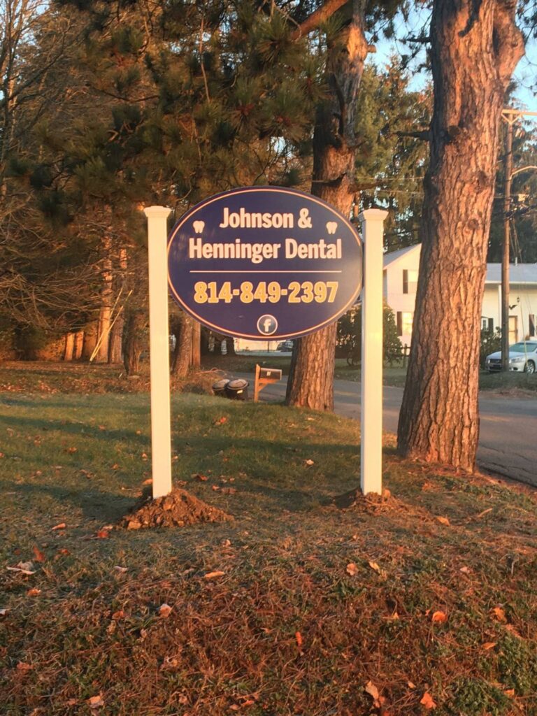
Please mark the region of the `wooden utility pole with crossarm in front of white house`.
[[507, 122], [507, 141], [505, 146], [505, 190], [503, 195], [503, 253], [502, 253], [502, 370], [509, 370], [509, 223], [511, 221], [511, 182], [513, 176], [513, 125], [521, 117], [537, 117], [537, 112], [524, 112], [511, 108], [502, 110], [502, 118]]

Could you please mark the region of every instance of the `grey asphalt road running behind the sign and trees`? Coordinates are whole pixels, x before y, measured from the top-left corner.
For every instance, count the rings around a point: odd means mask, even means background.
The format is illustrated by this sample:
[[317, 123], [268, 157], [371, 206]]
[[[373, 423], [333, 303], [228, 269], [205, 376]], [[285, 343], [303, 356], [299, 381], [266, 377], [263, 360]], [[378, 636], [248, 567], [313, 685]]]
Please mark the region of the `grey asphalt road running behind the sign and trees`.
[[[253, 374], [243, 374], [250, 381]], [[286, 378], [268, 385], [261, 401], [283, 400]], [[384, 386], [384, 431], [397, 432], [402, 388]], [[334, 382], [335, 412], [359, 419], [360, 384], [349, 380]], [[480, 438], [478, 465], [497, 475], [537, 486], [537, 398], [505, 397], [480, 393]]]

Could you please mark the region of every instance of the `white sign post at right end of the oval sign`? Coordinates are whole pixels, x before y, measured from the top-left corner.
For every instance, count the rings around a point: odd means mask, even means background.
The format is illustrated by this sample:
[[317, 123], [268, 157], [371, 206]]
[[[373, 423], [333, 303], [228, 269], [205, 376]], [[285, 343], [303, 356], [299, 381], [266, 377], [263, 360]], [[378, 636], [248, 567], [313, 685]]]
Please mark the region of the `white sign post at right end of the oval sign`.
[[387, 211], [359, 215], [364, 242], [362, 289], [362, 408], [360, 488], [382, 494], [382, 284], [383, 225]]

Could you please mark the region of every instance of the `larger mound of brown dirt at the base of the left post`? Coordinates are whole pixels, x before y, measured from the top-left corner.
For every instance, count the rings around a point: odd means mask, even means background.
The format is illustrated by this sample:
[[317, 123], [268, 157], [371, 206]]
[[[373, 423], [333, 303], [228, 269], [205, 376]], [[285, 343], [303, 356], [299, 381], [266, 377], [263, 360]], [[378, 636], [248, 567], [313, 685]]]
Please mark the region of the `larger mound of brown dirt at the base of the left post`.
[[120, 526], [127, 530], [147, 527], [185, 527], [200, 522], [227, 522], [231, 515], [212, 507], [186, 490], [175, 488], [168, 495], [153, 500], [145, 498], [142, 504], [125, 515]]

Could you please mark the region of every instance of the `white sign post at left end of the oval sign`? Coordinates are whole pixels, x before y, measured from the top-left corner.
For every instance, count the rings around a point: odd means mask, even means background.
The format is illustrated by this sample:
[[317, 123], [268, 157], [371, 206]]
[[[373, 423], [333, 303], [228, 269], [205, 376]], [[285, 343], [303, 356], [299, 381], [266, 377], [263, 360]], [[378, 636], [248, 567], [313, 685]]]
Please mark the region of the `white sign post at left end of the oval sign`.
[[151, 460], [153, 499], [172, 489], [170, 429], [170, 332], [168, 329], [167, 206], [148, 206]]

